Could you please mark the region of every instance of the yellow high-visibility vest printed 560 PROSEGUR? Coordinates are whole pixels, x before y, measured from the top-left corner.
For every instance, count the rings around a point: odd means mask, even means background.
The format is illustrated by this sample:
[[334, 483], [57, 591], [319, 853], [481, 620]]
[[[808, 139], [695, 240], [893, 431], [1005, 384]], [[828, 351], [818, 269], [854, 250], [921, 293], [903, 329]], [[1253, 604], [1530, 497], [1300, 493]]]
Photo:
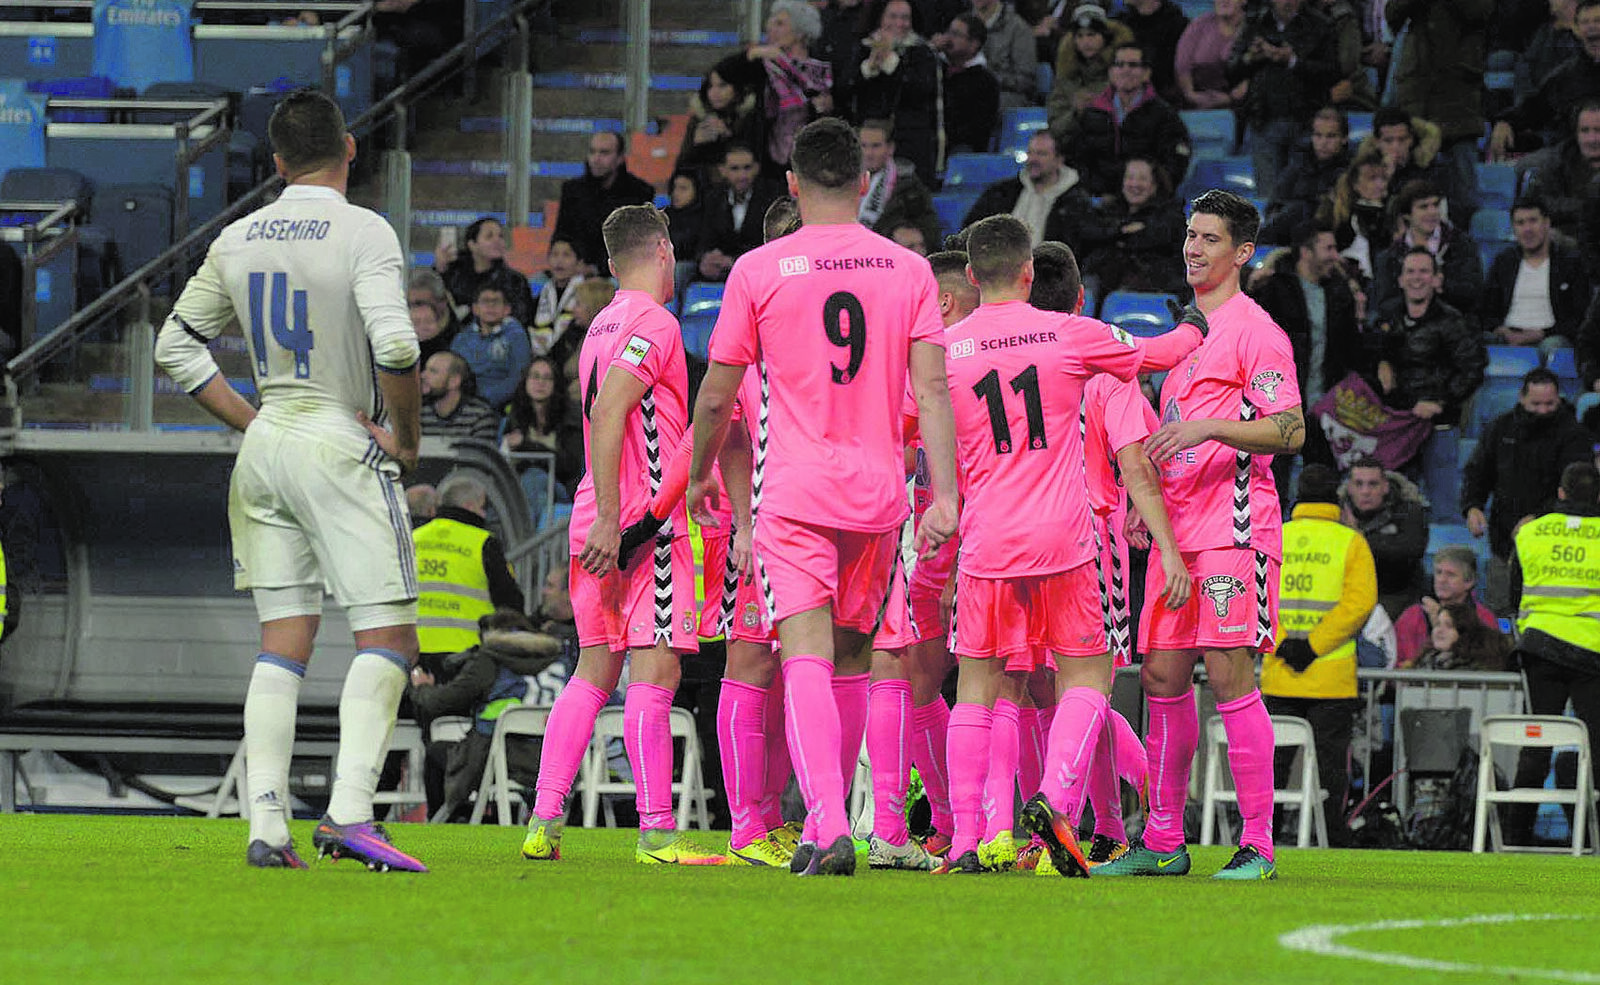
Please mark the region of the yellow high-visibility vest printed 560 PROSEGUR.
[[1517, 628], [1600, 652], [1600, 516], [1546, 513], [1517, 531]]

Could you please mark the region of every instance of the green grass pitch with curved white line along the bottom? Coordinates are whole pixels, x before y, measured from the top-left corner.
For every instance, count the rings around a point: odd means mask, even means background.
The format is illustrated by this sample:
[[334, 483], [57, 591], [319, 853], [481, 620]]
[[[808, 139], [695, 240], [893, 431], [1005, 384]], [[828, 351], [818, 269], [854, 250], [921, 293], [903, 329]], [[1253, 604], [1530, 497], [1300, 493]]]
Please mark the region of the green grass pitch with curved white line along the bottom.
[[[1280, 849], [1277, 883], [1240, 884], [1200, 847], [1184, 878], [797, 879], [642, 867], [632, 831], [570, 828], [533, 863], [520, 828], [390, 830], [434, 871], [251, 870], [242, 822], [3, 816], [0, 982], [1600, 983], [1594, 857]], [[310, 823], [294, 836], [309, 859]]]

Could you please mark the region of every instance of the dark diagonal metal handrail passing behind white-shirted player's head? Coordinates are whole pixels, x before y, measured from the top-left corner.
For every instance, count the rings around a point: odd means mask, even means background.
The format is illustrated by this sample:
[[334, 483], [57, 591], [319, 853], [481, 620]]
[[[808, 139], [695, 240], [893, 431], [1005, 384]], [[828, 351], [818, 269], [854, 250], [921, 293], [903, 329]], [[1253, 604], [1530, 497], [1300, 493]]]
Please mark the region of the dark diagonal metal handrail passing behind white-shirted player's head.
[[[472, 2], [472, 0], [469, 0]], [[454, 62], [459, 61], [467, 51], [475, 51], [478, 42], [485, 40], [491, 34], [501, 30], [509, 24], [518, 22], [526, 13], [544, 6], [549, 0], [517, 0], [510, 10], [494, 18], [491, 22], [478, 27], [478, 30], [470, 37], [454, 45], [450, 51], [434, 59], [426, 69], [411, 77], [406, 85], [389, 93], [378, 102], [374, 102], [365, 114], [352, 122], [350, 131], [357, 136], [365, 136], [365, 133], [382, 122], [382, 117], [395, 112], [403, 102], [422, 93], [427, 86], [434, 85], [445, 77], [446, 72], [458, 67]], [[6, 0], [0, 0], [0, 5], [8, 5]], [[88, 3], [93, 6], [93, 3]], [[370, 6], [370, 5], [366, 5]], [[267, 197], [277, 193], [282, 187], [283, 179], [278, 176], [267, 177], [259, 185], [246, 192], [237, 201], [230, 203], [226, 209], [218, 213], [208, 222], [197, 227], [194, 232], [186, 235], [182, 240], [170, 246], [160, 256], [139, 267], [128, 277], [122, 278], [109, 291], [91, 301], [86, 307], [75, 312], [70, 318], [53, 328], [43, 337], [34, 341], [32, 345], [11, 357], [6, 363], [6, 371], [16, 381], [26, 381], [32, 377], [38, 369], [69, 349], [82, 336], [88, 334], [91, 329], [98, 328], [101, 321], [120, 313], [128, 305], [139, 301], [139, 286], [149, 285], [150, 281], [160, 280], [176, 270], [181, 265], [187, 265], [190, 254], [197, 246], [210, 245], [213, 238], [232, 221], [248, 214], [259, 205], [262, 205]]]

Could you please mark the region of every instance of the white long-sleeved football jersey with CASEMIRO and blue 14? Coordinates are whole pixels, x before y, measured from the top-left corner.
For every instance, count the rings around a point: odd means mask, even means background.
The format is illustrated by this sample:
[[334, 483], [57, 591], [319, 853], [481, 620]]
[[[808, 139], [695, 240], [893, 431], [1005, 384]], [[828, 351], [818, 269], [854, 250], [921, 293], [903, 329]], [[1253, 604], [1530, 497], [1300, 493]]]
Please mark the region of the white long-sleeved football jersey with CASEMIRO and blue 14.
[[419, 347], [400, 241], [378, 213], [328, 187], [290, 185], [230, 224], [162, 326], [162, 368], [194, 393], [218, 373], [206, 344], [235, 320], [262, 417], [381, 457], [355, 413], [384, 422], [376, 373], [410, 369]]

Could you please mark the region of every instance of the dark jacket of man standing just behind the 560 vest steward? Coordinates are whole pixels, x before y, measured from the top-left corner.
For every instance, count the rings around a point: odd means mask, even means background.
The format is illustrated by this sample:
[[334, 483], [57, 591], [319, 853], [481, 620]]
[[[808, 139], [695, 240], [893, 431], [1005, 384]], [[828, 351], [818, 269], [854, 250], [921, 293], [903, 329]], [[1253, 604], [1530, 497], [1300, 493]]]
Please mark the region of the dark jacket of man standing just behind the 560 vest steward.
[[1461, 513], [1486, 510], [1490, 550], [1507, 558], [1517, 521], [1542, 513], [1562, 485], [1562, 469], [1592, 456], [1594, 435], [1578, 424], [1565, 400], [1549, 417], [1536, 417], [1518, 403], [1490, 422], [1472, 449], [1461, 473]]

